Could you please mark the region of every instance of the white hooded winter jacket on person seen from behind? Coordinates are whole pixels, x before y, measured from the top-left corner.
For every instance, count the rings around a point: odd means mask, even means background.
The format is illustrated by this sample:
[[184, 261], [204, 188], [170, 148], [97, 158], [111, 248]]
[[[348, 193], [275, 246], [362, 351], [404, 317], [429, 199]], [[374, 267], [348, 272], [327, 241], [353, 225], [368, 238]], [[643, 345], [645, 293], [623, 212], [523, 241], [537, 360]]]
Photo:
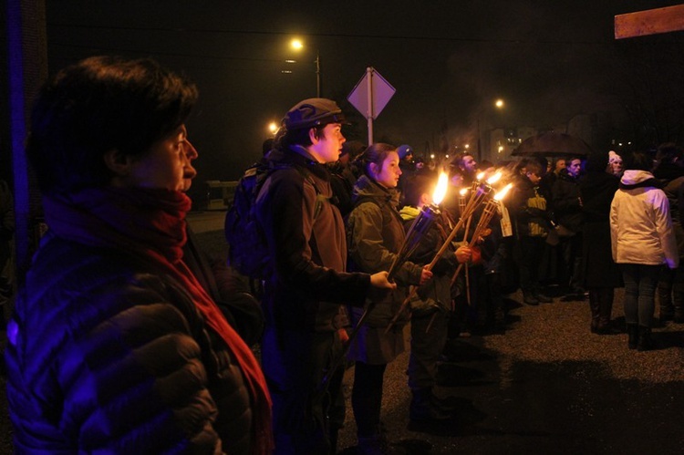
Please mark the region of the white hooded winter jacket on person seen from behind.
[[610, 238], [617, 264], [679, 265], [677, 242], [665, 192], [653, 174], [625, 171], [610, 205]]

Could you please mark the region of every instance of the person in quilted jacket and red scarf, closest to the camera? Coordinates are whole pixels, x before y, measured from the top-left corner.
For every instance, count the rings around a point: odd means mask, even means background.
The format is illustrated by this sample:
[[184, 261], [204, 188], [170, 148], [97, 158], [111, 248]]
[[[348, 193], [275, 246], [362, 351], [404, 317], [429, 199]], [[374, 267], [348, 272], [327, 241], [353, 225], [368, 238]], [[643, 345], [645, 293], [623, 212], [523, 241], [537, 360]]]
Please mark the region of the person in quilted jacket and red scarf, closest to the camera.
[[49, 229], [5, 348], [16, 453], [271, 452], [261, 368], [183, 261], [196, 97], [118, 57], [42, 88], [26, 153]]

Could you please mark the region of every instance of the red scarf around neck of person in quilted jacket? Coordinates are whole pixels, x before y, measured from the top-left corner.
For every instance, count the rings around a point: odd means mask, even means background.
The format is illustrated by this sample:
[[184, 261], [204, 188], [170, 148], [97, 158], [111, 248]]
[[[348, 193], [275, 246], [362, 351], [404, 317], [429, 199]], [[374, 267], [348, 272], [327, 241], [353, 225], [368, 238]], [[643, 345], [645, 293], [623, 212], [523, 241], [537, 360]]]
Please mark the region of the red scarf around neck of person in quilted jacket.
[[133, 253], [159, 264], [184, 286], [206, 324], [223, 338], [243, 372], [254, 406], [253, 453], [270, 453], [271, 398], [261, 367], [182, 261], [190, 199], [179, 191], [109, 187], [46, 196], [43, 205], [47, 225], [59, 237]]

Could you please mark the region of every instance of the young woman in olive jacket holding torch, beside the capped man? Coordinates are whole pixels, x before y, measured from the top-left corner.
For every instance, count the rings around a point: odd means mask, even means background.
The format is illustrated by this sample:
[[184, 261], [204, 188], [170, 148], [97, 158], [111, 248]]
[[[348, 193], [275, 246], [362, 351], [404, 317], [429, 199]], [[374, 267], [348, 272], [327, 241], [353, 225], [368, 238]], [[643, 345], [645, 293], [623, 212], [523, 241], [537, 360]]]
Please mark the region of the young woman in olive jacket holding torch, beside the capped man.
[[[403, 328], [407, 320], [389, 331], [386, 328], [406, 298], [409, 284], [425, 284], [432, 273], [418, 264], [399, 260], [405, 233], [397, 211], [396, 187], [401, 175], [397, 149], [389, 144], [373, 144], [364, 151], [362, 160], [364, 175], [354, 187], [355, 208], [347, 219], [348, 266], [367, 273], [392, 269], [398, 284], [391, 295], [392, 305], [378, 305], [368, 313], [349, 349], [349, 359], [356, 362], [352, 408], [358, 427], [358, 451], [381, 453], [387, 450], [387, 440], [380, 430], [383, 376], [389, 362], [404, 351]], [[353, 318], [360, 315], [358, 309], [352, 309]]]

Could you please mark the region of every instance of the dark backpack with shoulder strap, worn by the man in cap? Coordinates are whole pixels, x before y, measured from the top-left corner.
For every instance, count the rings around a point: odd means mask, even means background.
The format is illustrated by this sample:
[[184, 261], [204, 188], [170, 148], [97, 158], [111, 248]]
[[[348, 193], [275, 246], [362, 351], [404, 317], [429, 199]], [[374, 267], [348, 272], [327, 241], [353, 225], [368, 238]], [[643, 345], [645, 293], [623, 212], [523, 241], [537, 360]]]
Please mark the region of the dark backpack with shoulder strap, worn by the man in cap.
[[[240, 274], [253, 279], [263, 280], [266, 277], [270, 254], [266, 243], [264, 228], [256, 217], [256, 199], [266, 179], [275, 171], [293, 167], [285, 163], [269, 163], [259, 161], [247, 168], [237, 183], [233, 204], [225, 214], [224, 233], [228, 242], [228, 264]], [[308, 179], [316, 189], [316, 216], [326, 199], [319, 192], [316, 184], [309, 178], [306, 170], [294, 166], [302, 177]]]

